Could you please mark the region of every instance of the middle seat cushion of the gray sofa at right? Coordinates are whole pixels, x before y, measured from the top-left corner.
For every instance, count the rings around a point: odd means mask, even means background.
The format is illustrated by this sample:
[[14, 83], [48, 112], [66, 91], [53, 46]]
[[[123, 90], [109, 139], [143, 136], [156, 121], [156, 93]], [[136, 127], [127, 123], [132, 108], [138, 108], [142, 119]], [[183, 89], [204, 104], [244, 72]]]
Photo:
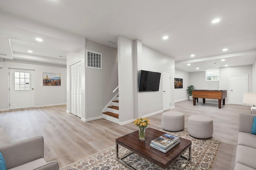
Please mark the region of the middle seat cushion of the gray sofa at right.
[[236, 147], [236, 163], [246, 165], [250, 168], [256, 169], [256, 149], [238, 145]]

